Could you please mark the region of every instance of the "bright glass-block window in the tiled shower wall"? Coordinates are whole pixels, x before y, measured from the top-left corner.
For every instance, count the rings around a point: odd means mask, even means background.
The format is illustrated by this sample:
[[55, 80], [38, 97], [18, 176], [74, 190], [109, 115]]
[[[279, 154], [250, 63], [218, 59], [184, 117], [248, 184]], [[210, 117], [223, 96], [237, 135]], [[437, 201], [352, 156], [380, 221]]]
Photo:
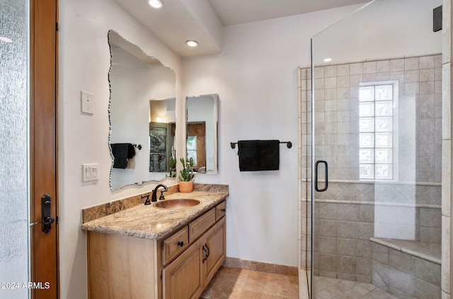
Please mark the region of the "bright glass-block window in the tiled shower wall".
[[394, 178], [394, 89], [396, 83], [359, 88], [360, 180]]

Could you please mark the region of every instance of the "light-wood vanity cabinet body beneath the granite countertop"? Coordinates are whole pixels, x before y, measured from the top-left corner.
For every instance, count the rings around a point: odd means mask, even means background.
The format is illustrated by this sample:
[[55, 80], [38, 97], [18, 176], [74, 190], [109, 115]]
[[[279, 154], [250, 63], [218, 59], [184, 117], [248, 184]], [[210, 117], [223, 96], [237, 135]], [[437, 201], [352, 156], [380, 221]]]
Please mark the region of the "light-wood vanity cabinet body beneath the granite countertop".
[[225, 212], [222, 201], [160, 240], [88, 230], [88, 298], [199, 298], [225, 259]]

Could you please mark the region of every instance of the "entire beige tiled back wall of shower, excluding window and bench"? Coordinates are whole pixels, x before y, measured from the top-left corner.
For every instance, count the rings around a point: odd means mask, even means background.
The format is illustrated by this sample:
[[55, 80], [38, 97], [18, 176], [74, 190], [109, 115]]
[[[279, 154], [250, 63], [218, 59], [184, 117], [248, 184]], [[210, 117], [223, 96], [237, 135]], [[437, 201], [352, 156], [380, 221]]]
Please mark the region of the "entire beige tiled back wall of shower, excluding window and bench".
[[[316, 193], [315, 275], [371, 282], [369, 238], [440, 243], [442, 56], [315, 68], [316, 158], [329, 163]], [[359, 180], [360, 83], [397, 82], [398, 182]], [[301, 267], [309, 261], [311, 71], [300, 70]]]

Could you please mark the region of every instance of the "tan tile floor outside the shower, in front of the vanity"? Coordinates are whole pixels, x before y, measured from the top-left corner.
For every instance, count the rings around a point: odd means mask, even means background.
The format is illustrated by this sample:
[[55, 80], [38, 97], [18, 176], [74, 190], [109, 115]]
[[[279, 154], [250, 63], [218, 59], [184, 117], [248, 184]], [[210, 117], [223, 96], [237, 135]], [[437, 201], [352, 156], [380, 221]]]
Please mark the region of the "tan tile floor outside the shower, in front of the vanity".
[[220, 267], [200, 299], [297, 299], [297, 276]]

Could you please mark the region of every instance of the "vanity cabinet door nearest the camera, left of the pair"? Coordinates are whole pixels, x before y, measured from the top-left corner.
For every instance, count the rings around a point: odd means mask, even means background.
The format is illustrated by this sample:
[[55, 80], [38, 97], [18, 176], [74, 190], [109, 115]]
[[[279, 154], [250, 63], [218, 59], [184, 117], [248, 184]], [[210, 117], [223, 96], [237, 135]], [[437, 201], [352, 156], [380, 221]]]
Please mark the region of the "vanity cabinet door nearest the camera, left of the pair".
[[162, 270], [164, 299], [197, 299], [205, 288], [202, 242], [190, 245]]

